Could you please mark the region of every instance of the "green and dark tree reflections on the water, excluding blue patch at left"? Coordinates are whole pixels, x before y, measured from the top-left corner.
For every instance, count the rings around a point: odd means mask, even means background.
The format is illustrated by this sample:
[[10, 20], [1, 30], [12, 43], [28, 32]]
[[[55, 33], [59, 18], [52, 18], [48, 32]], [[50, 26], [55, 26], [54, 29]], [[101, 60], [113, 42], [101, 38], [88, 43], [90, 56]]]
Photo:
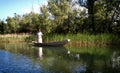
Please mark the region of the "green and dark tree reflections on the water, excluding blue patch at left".
[[41, 49], [28, 44], [6, 44], [4, 48], [12, 53], [28, 56], [33, 61], [42, 63], [46, 69], [58, 73], [60, 71], [119, 73], [120, 68], [120, 52], [113, 53], [113, 50], [107, 48], [42, 47]]

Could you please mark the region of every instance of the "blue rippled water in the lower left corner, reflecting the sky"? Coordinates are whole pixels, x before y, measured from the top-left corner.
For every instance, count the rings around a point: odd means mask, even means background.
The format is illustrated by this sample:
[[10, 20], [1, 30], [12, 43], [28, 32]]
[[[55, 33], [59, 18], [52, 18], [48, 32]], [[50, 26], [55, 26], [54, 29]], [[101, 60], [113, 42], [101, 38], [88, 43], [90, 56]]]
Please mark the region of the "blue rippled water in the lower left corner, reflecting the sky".
[[41, 73], [41, 66], [23, 56], [0, 50], [0, 73]]

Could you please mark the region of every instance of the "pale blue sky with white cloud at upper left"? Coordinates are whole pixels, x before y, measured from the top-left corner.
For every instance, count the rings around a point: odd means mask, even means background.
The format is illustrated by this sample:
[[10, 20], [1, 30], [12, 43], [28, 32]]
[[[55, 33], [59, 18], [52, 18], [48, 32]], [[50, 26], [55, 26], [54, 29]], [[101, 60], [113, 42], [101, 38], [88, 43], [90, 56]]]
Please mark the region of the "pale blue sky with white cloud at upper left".
[[0, 19], [13, 17], [14, 13], [23, 15], [34, 11], [39, 13], [39, 7], [47, 5], [47, 0], [0, 0]]

